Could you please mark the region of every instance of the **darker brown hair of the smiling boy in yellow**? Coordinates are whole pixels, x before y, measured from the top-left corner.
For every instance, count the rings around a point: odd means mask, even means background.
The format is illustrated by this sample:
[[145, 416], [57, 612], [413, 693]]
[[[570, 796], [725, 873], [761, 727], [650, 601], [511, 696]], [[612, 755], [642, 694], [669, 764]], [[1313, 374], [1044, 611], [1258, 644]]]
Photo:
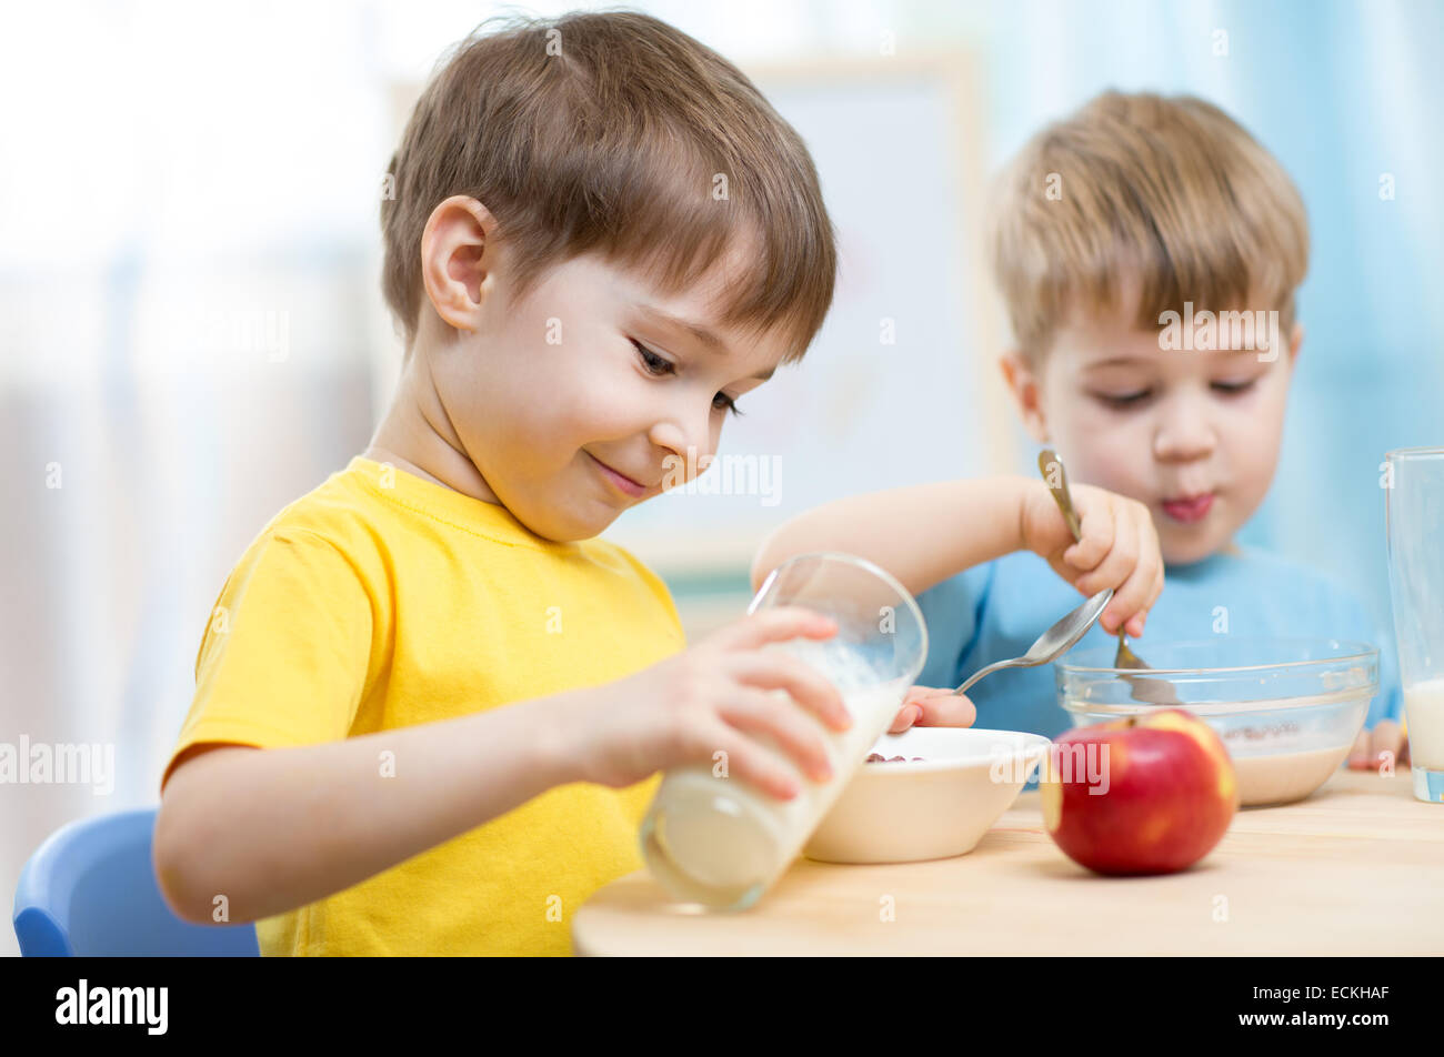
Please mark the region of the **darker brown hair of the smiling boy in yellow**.
[[806, 146], [752, 82], [645, 14], [495, 22], [443, 58], [388, 168], [381, 283], [407, 349], [422, 231], [461, 193], [497, 218], [518, 296], [588, 251], [671, 293], [745, 247], [722, 322], [781, 325], [800, 358], [832, 303], [835, 234]]

